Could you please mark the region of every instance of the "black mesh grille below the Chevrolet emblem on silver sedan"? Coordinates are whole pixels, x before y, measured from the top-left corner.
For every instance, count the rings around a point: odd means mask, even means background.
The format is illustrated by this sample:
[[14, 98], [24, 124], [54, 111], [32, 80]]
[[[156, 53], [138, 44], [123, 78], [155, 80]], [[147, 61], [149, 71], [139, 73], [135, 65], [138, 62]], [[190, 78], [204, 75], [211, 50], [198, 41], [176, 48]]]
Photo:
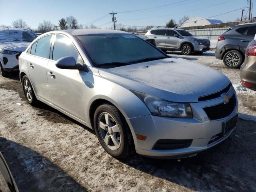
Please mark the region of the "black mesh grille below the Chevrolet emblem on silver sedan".
[[227, 104], [221, 103], [218, 105], [204, 107], [204, 112], [210, 120], [222, 119], [229, 116], [236, 107], [236, 96], [233, 96], [229, 99]]

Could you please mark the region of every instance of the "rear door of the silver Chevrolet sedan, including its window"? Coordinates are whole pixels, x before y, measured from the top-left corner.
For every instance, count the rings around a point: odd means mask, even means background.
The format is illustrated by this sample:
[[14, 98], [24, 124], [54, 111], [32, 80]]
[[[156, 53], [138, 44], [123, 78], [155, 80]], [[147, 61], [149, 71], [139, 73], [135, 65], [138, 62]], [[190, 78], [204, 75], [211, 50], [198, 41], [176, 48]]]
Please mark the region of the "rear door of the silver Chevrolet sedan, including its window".
[[52, 37], [53, 35], [47, 35], [36, 41], [27, 57], [28, 72], [34, 91], [40, 98], [47, 101], [51, 100], [46, 67], [49, 61]]

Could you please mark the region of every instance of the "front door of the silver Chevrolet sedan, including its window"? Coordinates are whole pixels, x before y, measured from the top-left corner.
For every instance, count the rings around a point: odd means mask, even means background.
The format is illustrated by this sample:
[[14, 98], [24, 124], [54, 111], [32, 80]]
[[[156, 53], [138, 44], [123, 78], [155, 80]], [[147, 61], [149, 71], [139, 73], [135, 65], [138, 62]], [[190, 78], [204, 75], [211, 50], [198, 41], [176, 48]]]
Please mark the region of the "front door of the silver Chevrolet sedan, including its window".
[[73, 56], [76, 62], [83, 64], [83, 60], [70, 38], [57, 34], [46, 70], [52, 103], [69, 114], [84, 120], [85, 110], [82, 93], [84, 84], [82, 78], [86, 72], [57, 68], [56, 60], [65, 56]]

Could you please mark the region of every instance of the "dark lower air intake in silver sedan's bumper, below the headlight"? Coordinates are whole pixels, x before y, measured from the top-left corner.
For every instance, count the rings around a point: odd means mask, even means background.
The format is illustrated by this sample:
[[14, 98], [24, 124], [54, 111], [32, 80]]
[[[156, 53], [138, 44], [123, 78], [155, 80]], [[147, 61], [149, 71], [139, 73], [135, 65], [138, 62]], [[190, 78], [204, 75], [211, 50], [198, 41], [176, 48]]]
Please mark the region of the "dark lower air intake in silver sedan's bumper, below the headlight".
[[156, 142], [154, 150], [174, 150], [190, 147], [192, 139], [160, 139]]

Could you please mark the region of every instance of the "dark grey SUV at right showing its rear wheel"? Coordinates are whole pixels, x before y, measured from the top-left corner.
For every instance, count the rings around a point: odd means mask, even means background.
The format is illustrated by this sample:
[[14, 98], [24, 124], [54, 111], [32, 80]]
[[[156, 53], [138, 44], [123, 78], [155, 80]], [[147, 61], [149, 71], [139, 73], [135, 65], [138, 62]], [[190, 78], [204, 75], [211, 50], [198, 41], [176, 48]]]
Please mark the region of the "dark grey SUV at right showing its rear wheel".
[[229, 68], [238, 68], [244, 62], [246, 47], [256, 34], [256, 23], [240, 24], [230, 28], [218, 38], [215, 57]]

